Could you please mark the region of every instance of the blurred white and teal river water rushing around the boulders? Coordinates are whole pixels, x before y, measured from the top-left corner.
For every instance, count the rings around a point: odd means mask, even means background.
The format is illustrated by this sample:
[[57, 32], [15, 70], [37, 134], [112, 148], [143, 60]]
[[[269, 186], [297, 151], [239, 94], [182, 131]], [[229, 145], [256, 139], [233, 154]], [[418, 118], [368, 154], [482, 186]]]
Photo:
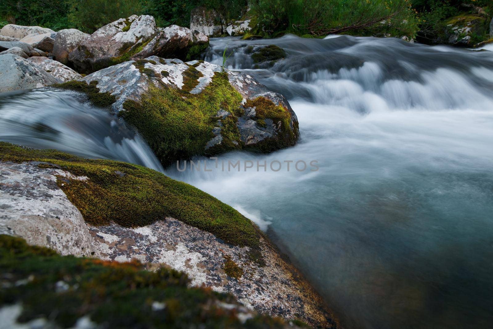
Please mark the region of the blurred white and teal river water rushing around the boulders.
[[[287, 56], [253, 69], [251, 44]], [[225, 48], [230, 69], [288, 98], [299, 143], [218, 159], [280, 171], [166, 173], [266, 228], [346, 328], [491, 328], [493, 52], [286, 36], [211, 39], [205, 59], [221, 64]], [[0, 140], [158, 168], [138, 137], [70, 92], [1, 98], [0, 129]], [[299, 160], [318, 170], [293, 169]]]

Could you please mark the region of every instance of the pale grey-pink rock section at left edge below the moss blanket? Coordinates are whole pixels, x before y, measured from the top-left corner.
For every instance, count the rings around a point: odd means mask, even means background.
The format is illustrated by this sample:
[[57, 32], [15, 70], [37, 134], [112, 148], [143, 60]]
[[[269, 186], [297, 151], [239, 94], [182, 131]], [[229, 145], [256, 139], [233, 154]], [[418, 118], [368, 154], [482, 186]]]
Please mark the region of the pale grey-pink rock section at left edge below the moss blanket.
[[55, 175], [70, 174], [37, 163], [0, 162], [0, 234], [21, 236], [62, 255], [89, 256], [91, 235]]

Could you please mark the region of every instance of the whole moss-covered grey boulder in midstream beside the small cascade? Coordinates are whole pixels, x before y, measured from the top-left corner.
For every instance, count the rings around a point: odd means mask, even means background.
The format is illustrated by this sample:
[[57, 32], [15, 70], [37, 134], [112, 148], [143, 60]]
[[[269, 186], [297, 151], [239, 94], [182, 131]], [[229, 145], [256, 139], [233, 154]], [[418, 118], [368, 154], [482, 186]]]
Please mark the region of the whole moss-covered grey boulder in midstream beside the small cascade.
[[116, 101], [164, 165], [233, 149], [270, 152], [296, 143], [296, 114], [282, 95], [246, 73], [151, 56], [79, 80]]

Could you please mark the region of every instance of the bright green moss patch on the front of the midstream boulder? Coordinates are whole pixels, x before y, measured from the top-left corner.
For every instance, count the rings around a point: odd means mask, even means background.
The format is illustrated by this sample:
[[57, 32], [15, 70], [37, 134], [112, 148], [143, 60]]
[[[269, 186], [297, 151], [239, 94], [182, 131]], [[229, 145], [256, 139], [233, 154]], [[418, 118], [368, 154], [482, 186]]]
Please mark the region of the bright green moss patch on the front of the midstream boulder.
[[[197, 71], [189, 67], [184, 89], [196, 86]], [[198, 72], [198, 71], [197, 71]], [[174, 88], [151, 88], [141, 103], [126, 101], [121, 115], [137, 128], [157, 157], [166, 166], [179, 159], [204, 154], [214, 137], [212, 128], [219, 109], [242, 115], [242, 96], [229, 84], [227, 73], [215, 73], [199, 94]]]

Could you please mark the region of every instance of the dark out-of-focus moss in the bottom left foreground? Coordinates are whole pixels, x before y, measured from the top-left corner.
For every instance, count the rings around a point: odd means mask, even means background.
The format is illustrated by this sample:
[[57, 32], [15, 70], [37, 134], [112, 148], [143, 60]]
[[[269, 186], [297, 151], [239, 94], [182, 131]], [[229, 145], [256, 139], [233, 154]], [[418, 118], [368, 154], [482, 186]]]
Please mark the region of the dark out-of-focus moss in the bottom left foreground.
[[0, 235], [0, 281], [0, 307], [21, 304], [21, 323], [45, 318], [72, 328], [87, 316], [102, 328], [287, 327], [279, 318], [257, 314], [242, 323], [235, 309], [220, 306], [240, 305], [232, 295], [188, 288], [183, 272], [147, 271], [138, 261], [60, 256], [7, 235]]

